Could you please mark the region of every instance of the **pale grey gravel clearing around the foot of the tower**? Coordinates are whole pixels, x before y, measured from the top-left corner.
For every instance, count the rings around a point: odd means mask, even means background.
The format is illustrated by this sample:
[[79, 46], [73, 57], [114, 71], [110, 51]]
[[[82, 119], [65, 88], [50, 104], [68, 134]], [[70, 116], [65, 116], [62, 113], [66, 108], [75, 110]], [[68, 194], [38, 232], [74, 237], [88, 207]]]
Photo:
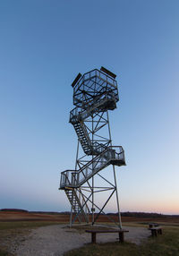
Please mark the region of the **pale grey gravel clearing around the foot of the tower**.
[[[125, 241], [141, 243], [149, 236], [149, 230], [143, 227], [124, 226], [129, 233], [124, 234]], [[98, 234], [97, 243], [116, 242], [118, 234]], [[42, 226], [33, 229], [18, 248], [12, 248], [17, 256], [61, 256], [64, 252], [90, 243], [90, 234], [80, 233], [64, 225]]]

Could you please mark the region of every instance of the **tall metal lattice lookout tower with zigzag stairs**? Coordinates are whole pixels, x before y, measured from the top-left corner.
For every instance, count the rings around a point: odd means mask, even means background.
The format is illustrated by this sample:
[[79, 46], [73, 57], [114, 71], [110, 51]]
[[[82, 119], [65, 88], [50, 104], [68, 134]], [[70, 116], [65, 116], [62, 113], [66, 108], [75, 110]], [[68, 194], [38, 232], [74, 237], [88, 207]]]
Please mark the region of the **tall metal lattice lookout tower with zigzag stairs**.
[[[125, 166], [124, 149], [113, 146], [108, 111], [116, 108], [119, 100], [116, 75], [101, 67], [89, 73], [79, 73], [72, 82], [73, 105], [70, 123], [78, 137], [76, 163], [74, 170], [61, 173], [60, 190], [64, 190], [71, 204], [70, 225], [76, 220], [80, 223], [96, 223], [100, 214], [115, 195], [118, 221], [122, 228], [115, 166]], [[110, 170], [109, 167], [112, 166]], [[106, 175], [103, 175], [103, 171]], [[109, 181], [112, 177], [112, 181]], [[108, 192], [101, 204], [97, 194]], [[113, 197], [114, 198], [114, 197]], [[95, 212], [96, 211], [96, 212]]]

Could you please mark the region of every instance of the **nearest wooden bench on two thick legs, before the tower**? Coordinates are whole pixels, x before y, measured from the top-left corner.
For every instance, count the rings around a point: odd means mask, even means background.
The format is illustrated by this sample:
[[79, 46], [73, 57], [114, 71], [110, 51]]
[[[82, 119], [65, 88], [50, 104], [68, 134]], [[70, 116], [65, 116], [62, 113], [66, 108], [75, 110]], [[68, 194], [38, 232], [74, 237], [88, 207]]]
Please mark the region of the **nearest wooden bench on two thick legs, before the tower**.
[[107, 229], [107, 230], [86, 230], [87, 233], [91, 233], [91, 243], [96, 243], [97, 233], [118, 233], [119, 243], [124, 243], [124, 232], [129, 232], [129, 230], [124, 229]]

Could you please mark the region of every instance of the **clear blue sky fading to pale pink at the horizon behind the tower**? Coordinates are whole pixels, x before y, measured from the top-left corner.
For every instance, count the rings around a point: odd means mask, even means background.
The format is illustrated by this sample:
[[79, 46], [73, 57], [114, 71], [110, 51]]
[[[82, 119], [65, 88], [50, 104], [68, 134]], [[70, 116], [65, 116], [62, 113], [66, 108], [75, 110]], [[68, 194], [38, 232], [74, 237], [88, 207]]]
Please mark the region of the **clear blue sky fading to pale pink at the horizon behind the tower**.
[[103, 65], [119, 85], [121, 209], [179, 214], [178, 24], [175, 0], [0, 2], [0, 209], [70, 209], [71, 83]]

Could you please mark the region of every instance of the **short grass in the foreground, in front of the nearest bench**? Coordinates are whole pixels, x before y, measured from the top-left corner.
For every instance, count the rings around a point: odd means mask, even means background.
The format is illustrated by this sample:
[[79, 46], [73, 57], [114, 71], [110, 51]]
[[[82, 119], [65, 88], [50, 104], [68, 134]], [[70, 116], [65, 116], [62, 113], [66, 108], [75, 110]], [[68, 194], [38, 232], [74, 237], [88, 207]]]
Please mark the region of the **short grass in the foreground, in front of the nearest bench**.
[[150, 237], [146, 243], [105, 243], [89, 244], [81, 249], [72, 250], [65, 256], [178, 256], [179, 228], [166, 227], [163, 235]]

